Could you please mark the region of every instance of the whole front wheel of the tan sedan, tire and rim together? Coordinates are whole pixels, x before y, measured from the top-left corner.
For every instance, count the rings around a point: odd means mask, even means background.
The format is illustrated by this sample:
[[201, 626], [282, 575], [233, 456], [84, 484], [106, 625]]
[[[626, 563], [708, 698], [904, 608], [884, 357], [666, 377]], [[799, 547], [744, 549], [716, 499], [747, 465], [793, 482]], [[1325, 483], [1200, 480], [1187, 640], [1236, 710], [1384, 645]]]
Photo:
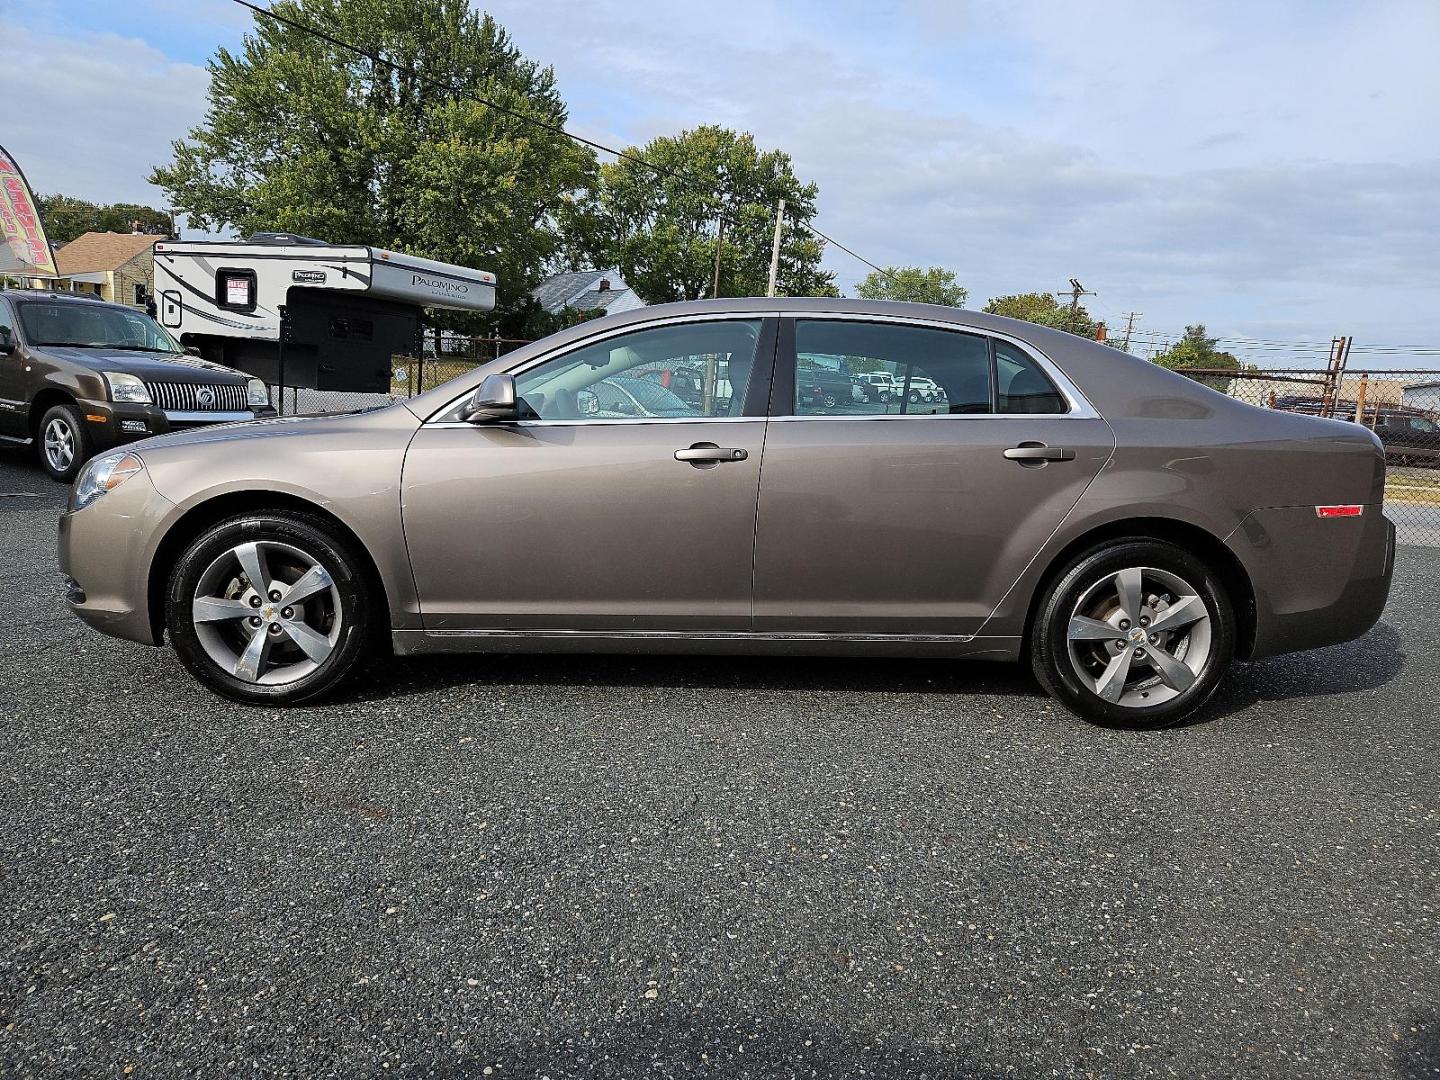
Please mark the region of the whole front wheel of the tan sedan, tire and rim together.
[[373, 608], [361, 563], [324, 521], [249, 514], [212, 526], [180, 556], [166, 626], [180, 660], [212, 690], [298, 704], [351, 674]]

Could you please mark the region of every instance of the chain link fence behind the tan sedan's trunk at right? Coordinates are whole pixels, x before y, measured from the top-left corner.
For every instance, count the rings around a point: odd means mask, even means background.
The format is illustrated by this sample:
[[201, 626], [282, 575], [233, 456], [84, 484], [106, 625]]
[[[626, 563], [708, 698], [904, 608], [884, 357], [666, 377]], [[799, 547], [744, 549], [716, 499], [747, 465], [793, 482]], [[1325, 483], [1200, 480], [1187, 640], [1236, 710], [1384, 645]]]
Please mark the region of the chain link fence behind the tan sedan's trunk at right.
[[1182, 369], [1266, 409], [1362, 423], [1385, 446], [1385, 514], [1401, 544], [1440, 547], [1440, 370], [1217, 372]]

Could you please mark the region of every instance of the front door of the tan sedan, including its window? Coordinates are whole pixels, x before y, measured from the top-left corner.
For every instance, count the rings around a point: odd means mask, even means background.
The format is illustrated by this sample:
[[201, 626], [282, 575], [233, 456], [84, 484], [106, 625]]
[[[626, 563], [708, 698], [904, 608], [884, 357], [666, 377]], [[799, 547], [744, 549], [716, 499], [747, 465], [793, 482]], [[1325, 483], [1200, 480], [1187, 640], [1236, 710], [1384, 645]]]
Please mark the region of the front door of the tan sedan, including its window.
[[[403, 517], [426, 629], [749, 631], [775, 327], [611, 333], [514, 370], [520, 420], [425, 423]], [[681, 364], [694, 403], [652, 382]]]

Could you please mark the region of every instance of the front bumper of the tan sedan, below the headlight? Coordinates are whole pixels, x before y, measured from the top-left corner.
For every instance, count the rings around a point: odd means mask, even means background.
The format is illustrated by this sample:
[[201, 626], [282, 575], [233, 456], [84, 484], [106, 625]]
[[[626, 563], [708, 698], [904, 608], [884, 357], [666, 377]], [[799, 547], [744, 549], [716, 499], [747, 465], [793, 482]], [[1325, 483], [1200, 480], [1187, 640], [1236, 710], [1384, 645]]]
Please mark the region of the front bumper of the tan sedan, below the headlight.
[[158, 645], [150, 625], [151, 546], [177, 513], [140, 472], [84, 510], [60, 516], [65, 599], [81, 621], [117, 638]]

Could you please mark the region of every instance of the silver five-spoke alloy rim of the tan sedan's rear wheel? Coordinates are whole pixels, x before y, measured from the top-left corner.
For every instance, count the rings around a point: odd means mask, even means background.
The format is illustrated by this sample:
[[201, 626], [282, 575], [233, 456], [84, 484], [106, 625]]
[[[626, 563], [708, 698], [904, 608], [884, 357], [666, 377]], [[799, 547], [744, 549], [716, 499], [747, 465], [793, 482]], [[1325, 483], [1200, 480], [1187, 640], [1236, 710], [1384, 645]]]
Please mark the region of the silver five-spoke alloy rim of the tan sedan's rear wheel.
[[1102, 701], [1158, 706], [1204, 674], [1210, 609], [1178, 575], [1132, 566], [1086, 589], [1070, 613], [1066, 638], [1070, 664]]

